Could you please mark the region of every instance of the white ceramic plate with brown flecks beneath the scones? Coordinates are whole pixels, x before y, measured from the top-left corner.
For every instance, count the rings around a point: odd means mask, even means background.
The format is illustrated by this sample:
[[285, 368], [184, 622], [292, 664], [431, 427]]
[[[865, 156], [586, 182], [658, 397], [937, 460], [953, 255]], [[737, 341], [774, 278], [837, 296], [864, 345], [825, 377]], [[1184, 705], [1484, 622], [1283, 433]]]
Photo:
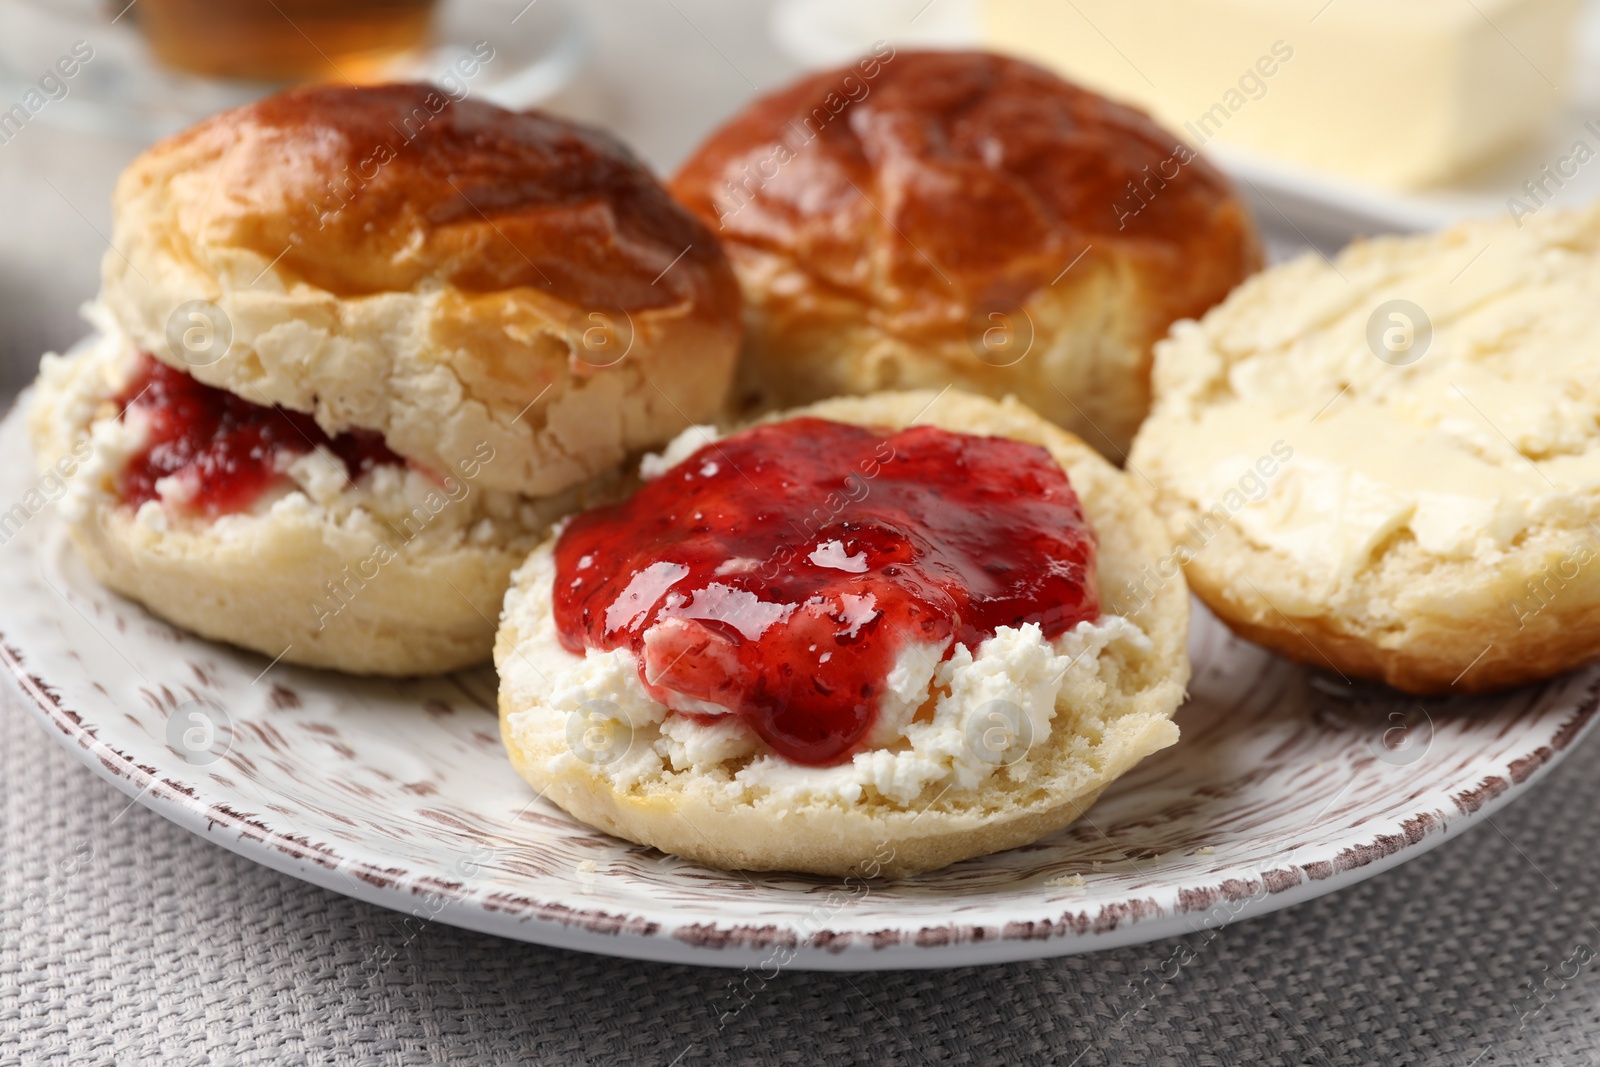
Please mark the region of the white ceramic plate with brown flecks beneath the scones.
[[1078, 824], [893, 885], [726, 873], [534, 800], [501, 753], [491, 670], [374, 681], [272, 665], [106, 592], [29, 469], [13, 414], [0, 426], [0, 657], [45, 728], [179, 825], [408, 912], [413, 931], [442, 921], [766, 974], [1184, 934], [1438, 845], [1554, 766], [1600, 699], [1595, 670], [1480, 699], [1349, 686], [1235, 640], [1197, 608], [1182, 741]]

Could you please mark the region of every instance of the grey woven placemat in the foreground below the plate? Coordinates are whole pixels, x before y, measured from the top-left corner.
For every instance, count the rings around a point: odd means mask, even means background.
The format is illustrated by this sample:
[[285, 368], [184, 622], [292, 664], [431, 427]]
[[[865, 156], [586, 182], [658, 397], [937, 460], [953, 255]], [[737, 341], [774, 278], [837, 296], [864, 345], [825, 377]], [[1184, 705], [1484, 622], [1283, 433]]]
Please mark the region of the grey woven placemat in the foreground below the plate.
[[413, 934], [130, 808], [3, 685], [0, 1064], [1600, 1062], [1595, 741], [1491, 825], [1214, 937], [734, 993]]

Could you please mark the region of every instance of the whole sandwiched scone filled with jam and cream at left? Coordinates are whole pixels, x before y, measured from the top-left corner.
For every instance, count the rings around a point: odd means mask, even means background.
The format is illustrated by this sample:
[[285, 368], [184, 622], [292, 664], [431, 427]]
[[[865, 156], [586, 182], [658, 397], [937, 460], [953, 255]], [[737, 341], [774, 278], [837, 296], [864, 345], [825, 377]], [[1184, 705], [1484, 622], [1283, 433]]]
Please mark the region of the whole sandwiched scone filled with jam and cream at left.
[[117, 182], [40, 470], [96, 577], [285, 662], [490, 657], [510, 571], [715, 411], [738, 283], [624, 147], [426, 85], [282, 93]]

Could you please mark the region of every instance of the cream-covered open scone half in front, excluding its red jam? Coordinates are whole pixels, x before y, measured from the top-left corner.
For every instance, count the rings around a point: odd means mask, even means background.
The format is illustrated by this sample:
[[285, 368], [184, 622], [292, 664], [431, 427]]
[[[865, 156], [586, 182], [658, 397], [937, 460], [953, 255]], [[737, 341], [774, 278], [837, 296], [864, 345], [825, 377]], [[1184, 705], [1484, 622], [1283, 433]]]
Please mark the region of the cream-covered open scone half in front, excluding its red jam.
[[[1101, 587], [1120, 585], [1170, 550], [1128, 475], [1013, 400], [877, 394], [774, 421], [800, 416], [880, 432], [933, 426], [1043, 448], [1098, 534]], [[646, 464], [646, 477], [670, 477], [685, 459], [717, 462], [715, 448], [693, 459], [707, 440], [680, 437], [661, 462]], [[1072, 822], [1118, 774], [1178, 739], [1171, 715], [1189, 678], [1181, 574], [1133, 616], [1101, 614], [1053, 640], [1032, 624], [1003, 627], [920, 675], [899, 669], [891, 675], [899, 718], [885, 704], [880, 715], [893, 721], [880, 720], [867, 747], [842, 763], [805, 766], [733, 717], [707, 725], [656, 701], [627, 649], [570, 651], [554, 606], [555, 547], [546, 542], [517, 571], [501, 617], [494, 657], [506, 749], [547, 800], [666, 853], [723, 869], [926, 872]], [[824, 539], [818, 550], [826, 547]], [[990, 723], [984, 717], [997, 705], [1018, 713]], [[987, 725], [1002, 736], [986, 734]]]

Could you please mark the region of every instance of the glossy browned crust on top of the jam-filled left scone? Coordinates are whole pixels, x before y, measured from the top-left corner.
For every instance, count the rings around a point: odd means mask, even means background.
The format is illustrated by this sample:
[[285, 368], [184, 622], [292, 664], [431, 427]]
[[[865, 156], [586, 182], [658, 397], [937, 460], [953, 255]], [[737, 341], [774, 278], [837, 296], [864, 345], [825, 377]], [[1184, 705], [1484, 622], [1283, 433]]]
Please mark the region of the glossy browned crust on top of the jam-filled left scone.
[[726, 298], [715, 243], [619, 141], [427, 85], [315, 86], [226, 112], [141, 155], [118, 206], [155, 187], [178, 195], [146, 222], [179, 254], [248, 250], [338, 296], [432, 282], [627, 310]]

